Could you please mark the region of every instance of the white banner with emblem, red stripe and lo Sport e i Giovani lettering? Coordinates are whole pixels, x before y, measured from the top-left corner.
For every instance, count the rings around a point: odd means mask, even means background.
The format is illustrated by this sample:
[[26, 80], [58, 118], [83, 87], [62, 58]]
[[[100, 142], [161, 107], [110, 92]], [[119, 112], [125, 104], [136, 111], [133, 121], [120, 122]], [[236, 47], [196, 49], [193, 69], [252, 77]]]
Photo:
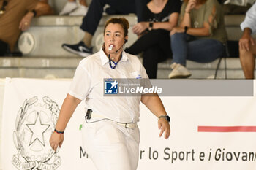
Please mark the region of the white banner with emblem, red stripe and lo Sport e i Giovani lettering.
[[[48, 140], [70, 81], [7, 79], [2, 119], [3, 170], [96, 170], [83, 150], [83, 103], [72, 116], [59, 152]], [[200, 80], [198, 80], [200, 83]], [[162, 97], [171, 117], [169, 139], [141, 104], [138, 170], [256, 169], [256, 98]]]

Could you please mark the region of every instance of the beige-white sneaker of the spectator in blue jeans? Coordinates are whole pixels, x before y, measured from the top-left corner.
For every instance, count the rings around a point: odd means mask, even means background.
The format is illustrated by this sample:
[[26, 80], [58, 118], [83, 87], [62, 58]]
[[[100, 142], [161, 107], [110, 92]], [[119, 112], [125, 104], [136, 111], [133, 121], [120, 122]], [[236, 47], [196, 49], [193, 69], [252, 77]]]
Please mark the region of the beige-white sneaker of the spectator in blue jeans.
[[179, 63], [172, 63], [170, 65], [170, 69], [173, 69], [172, 72], [169, 74], [169, 79], [176, 79], [176, 78], [187, 78], [191, 76], [189, 70], [182, 66]]

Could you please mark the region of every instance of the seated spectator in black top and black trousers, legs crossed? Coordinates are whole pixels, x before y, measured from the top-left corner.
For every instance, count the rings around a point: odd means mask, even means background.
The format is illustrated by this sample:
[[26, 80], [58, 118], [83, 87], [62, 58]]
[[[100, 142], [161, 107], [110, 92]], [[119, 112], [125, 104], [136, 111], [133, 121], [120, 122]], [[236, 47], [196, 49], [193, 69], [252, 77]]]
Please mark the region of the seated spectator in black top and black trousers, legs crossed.
[[126, 52], [143, 52], [143, 66], [151, 79], [157, 78], [157, 63], [171, 55], [169, 34], [178, 23], [180, 9], [180, 0], [151, 0], [143, 9], [143, 21], [132, 28], [140, 38]]

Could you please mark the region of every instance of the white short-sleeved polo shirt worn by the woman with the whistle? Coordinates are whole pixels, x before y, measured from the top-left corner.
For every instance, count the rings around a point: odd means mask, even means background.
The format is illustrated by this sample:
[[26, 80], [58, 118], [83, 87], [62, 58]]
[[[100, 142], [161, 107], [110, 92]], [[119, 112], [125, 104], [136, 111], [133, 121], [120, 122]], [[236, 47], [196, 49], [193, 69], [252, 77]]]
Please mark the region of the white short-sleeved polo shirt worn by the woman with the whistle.
[[[140, 96], [104, 96], [105, 78], [148, 78], [135, 55], [122, 52], [116, 69], [111, 69], [107, 55], [101, 49], [80, 61], [70, 86], [69, 95], [85, 99], [86, 109], [92, 109], [117, 122], [130, 123], [140, 117]], [[85, 113], [86, 114], [86, 113]]]

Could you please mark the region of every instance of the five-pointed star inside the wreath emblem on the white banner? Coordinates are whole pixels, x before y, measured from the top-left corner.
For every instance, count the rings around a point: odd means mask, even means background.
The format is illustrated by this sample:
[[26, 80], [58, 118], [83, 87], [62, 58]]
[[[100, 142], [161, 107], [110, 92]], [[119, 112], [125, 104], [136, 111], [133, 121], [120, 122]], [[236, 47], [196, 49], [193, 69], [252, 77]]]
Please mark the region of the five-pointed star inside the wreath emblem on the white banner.
[[41, 117], [39, 116], [39, 112], [37, 112], [37, 118], [34, 121], [34, 124], [26, 124], [26, 126], [31, 131], [31, 138], [29, 142], [29, 146], [34, 142], [38, 141], [45, 147], [45, 137], [44, 133], [48, 130], [50, 125], [42, 124]]

